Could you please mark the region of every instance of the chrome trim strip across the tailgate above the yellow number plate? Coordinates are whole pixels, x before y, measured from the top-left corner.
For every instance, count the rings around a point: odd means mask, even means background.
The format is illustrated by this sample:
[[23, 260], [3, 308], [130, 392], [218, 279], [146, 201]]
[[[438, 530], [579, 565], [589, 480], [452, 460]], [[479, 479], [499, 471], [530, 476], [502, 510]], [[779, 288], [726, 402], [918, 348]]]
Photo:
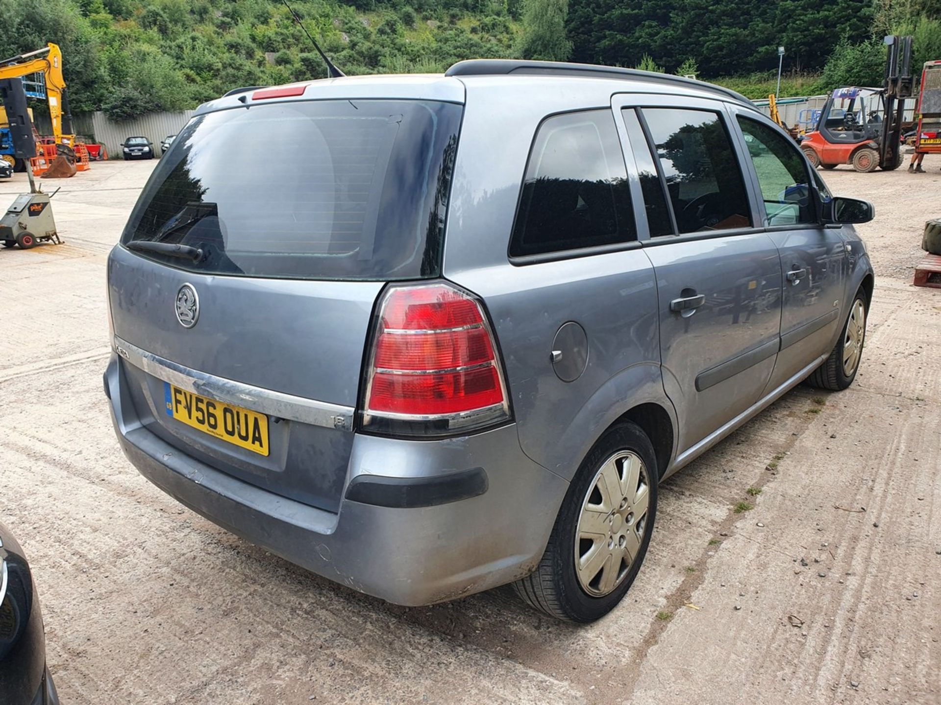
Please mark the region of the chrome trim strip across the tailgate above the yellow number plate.
[[300, 421], [311, 426], [353, 431], [353, 415], [356, 410], [352, 406], [295, 397], [292, 394], [275, 392], [216, 377], [197, 369], [185, 368], [152, 352], [141, 350], [118, 336], [114, 337], [113, 348], [136, 368], [202, 397], [244, 406], [262, 414]]

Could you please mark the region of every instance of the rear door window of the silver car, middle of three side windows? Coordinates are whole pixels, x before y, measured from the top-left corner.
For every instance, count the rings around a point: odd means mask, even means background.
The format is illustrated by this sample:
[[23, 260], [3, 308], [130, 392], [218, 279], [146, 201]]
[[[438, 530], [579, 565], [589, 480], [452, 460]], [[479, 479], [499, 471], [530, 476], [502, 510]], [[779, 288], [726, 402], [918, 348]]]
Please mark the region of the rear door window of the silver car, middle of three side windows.
[[680, 232], [752, 225], [742, 170], [718, 113], [645, 108]]

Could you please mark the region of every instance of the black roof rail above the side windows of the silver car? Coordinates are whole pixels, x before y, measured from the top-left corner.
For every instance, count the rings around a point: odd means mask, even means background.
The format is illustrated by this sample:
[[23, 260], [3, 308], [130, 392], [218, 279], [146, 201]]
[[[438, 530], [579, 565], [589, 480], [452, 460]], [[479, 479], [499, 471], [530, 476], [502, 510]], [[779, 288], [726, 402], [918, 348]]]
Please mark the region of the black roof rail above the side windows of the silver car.
[[721, 93], [727, 98], [742, 102], [750, 107], [754, 103], [723, 86], [696, 81], [692, 78], [674, 76], [669, 73], [655, 73], [653, 71], [639, 71], [638, 69], [620, 69], [613, 66], [596, 66], [595, 64], [571, 64], [565, 61], [522, 61], [518, 59], [468, 59], [458, 61], [454, 66], [444, 72], [445, 76], [494, 76], [509, 73], [544, 74], [550, 76], [585, 76], [595, 78], [619, 78], [634, 81], [650, 81], [654, 83], [675, 83], [682, 86], [691, 86], [701, 90], [710, 90]]

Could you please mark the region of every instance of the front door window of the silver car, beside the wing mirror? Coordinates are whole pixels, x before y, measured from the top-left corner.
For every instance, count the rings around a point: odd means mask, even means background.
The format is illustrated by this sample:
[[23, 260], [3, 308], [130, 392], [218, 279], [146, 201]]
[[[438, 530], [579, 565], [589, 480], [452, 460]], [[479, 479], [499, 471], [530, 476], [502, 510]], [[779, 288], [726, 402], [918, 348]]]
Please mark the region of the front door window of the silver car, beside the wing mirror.
[[749, 118], [739, 118], [748, 154], [755, 164], [768, 225], [815, 223], [804, 157], [782, 134]]

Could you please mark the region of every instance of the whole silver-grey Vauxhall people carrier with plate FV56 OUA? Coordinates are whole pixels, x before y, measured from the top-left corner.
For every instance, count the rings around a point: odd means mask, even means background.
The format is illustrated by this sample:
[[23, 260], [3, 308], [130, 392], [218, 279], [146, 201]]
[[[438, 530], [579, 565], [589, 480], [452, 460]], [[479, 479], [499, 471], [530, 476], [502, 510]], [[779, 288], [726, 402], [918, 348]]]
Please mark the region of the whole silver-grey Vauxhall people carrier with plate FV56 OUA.
[[233, 91], [111, 252], [104, 388], [146, 478], [312, 572], [598, 619], [663, 478], [805, 379], [852, 384], [872, 214], [751, 102], [673, 76]]

